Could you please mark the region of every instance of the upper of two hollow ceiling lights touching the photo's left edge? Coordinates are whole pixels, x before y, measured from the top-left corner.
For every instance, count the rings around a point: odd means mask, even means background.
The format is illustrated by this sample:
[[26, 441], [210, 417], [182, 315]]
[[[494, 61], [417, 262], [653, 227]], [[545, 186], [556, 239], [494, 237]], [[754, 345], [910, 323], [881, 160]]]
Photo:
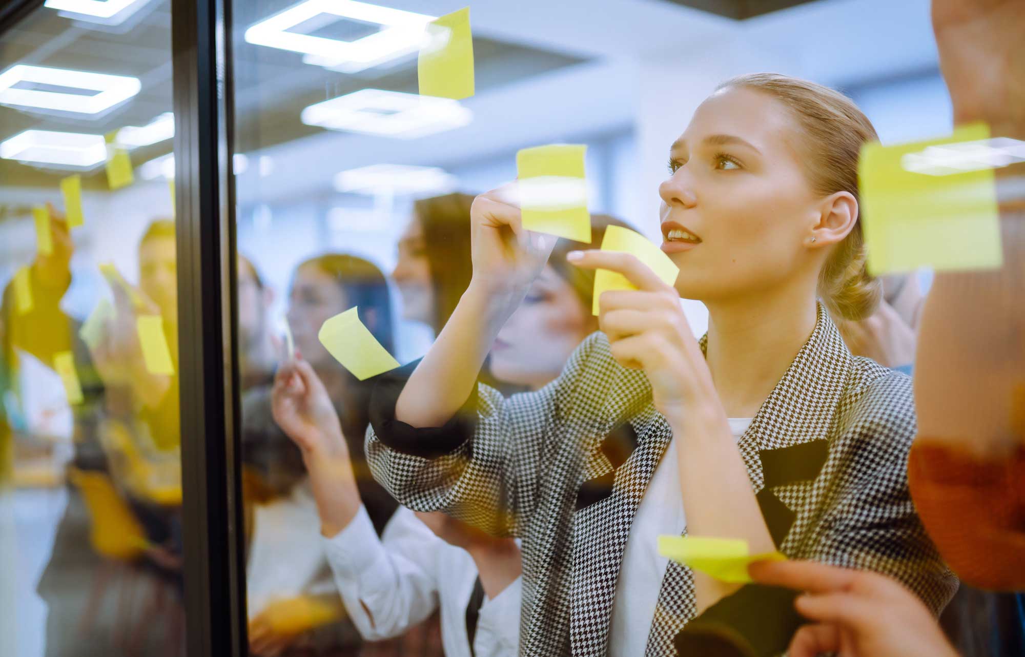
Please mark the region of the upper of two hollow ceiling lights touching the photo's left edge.
[[[85, 89], [92, 94], [65, 93], [42, 89], [18, 89], [22, 82], [35, 82], [69, 89]], [[138, 78], [71, 69], [51, 69], [16, 64], [0, 73], [0, 105], [76, 114], [98, 114], [138, 93]]]

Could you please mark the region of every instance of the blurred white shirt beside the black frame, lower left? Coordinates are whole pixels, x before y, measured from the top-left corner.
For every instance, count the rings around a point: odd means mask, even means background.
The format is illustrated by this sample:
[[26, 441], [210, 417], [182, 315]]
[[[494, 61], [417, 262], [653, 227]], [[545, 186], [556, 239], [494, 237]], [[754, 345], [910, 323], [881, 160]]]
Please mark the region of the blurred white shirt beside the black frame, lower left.
[[277, 599], [333, 590], [319, 535], [320, 518], [309, 480], [296, 484], [288, 495], [253, 507], [246, 565], [249, 618]]

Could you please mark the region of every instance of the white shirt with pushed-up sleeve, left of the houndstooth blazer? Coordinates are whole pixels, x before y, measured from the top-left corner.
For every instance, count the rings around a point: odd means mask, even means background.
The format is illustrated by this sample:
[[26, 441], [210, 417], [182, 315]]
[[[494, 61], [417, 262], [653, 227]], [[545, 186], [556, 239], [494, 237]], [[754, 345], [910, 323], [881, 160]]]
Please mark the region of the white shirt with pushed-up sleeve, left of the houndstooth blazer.
[[[381, 538], [361, 506], [345, 529], [324, 541], [345, 610], [365, 640], [397, 637], [440, 606], [446, 657], [470, 657], [466, 605], [477, 566], [466, 550], [438, 538], [405, 506]], [[485, 599], [474, 657], [519, 654], [520, 591], [518, 577], [494, 599]]]

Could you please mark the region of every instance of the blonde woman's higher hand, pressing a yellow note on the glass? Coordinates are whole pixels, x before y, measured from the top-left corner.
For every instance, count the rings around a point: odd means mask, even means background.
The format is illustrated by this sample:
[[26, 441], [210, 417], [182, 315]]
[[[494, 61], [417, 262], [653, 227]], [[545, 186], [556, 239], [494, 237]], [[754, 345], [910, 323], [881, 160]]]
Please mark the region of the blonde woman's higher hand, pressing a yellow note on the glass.
[[556, 237], [523, 228], [517, 190], [509, 182], [482, 194], [469, 211], [473, 284], [491, 294], [526, 293], [556, 245]]

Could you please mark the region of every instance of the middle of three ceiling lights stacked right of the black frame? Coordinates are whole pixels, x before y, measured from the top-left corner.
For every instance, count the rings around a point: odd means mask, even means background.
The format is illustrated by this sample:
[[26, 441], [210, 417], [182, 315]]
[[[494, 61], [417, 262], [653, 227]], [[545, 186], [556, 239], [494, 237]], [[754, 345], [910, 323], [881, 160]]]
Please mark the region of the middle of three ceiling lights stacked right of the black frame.
[[474, 113], [451, 98], [361, 89], [311, 105], [300, 118], [329, 130], [412, 139], [464, 126]]

